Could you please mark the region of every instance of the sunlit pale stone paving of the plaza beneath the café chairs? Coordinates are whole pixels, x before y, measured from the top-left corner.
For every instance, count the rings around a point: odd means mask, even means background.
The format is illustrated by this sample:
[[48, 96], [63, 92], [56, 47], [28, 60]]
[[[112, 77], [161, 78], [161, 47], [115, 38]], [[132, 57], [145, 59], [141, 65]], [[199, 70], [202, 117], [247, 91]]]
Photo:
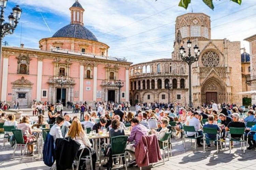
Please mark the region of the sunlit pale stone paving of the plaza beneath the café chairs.
[[[31, 113], [25, 113], [25, 115], [31, 115]], [[71, 117], [77, 114], [71, 114]], [[34, 120], [37, 119], [36, 116], [33, 117]], [[2, 138], [0, 140], [0, 145], [2, 146]], [[229, 153], [228, 148], [219, 151], [217, 154], [216, 147], [211, 149], [206, 148], [206, 152], [203, 152], [203, 148], [197, 148], [194, 151], [194, 147], [191, 147], [190, 141], [187, 139], [186, 149], [183, 148], [182, 140], [172, 139], [172, 157], [169, 158], [169, 161], [166, 158], [165, 165], [159, 163], [154, 165], [152, 168], [144, 167], [142, 169], [154, 169], [154, 170], [220, 170], [220, 169], [256, 169], [256, 150], [245, 150], [243, 154], [240, 143], [234, 142], [234, 149]], [[194, 146], [194, 141], [193, 141]], [[24, 156], [23, 160], [20, 161], [20, 151], [18, 150], [15, 153], [14, 158], [12, 158], [13, 149], [10, 147], [10, 144], [4, 148], [0, 149], [0, 169], [1, 170], [20, 170], [20, 169], [49, 169], [45, 166], [42, 159], [39, 159], [37, 155], [35, 156]], [[167, 154], [166, 154], [167, 156]], [[98, 169], [98, 163], [96, 164]], [[89, 168], [89, 166], [87, 166]], [[123, 166], [119, 169], [122, 169]], [[105, 168], [101, 168], [105, 169]], [[123, 168], [125, 169], [125, 168]], [[139, 168], [128, 168], [128, 169], [139, 169]]]

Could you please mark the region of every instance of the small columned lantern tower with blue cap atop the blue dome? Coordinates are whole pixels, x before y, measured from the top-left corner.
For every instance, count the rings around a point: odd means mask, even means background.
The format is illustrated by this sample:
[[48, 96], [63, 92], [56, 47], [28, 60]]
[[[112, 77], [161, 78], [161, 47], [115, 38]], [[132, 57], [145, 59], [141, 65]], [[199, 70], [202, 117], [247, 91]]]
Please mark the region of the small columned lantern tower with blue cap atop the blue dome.
[[83, 13], [84, 8], [82, 5], [78, 2], [78, 0], [75, 1], [75, 3], [69, 8], [71, 12], [71, 24], [81, 24], [84, 26], [83, 23]]

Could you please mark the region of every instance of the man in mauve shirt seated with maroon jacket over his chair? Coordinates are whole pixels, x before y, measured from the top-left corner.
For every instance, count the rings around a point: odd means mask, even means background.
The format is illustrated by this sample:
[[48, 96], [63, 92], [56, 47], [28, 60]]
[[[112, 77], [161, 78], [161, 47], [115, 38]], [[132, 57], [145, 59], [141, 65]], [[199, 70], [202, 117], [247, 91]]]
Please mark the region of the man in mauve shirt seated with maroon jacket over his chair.
[[131, 119], [131, 134], [128, 138], [128, 142], [134, 141], [135, 143], [131, 143], [126, 146], [126, 150], [129, 152], [132, 158], [132, 161], [128, 165], [136, 166], [135, 148], [140, 143], [141, 137], [148, 135], [147, 132], [147, 128], [140, 123], [138, 118]]

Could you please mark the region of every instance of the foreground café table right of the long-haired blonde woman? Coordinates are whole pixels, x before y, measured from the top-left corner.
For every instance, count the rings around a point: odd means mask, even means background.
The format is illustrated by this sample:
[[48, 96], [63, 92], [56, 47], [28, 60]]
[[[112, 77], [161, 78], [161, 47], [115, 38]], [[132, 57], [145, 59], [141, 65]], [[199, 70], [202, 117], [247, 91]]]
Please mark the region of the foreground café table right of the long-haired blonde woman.
[[[130, 131], [125, 131], [125, 135], [129, 136]], [[104, 133], [102, 135], [99, 135], [98, 133], [95, 135], [87, 134], [88, 139], [94, 139], [95, 140], [95, 152], [97, 155], [97, 161], [99, 160], [100, 152], [101, 152], [101, 139], [104, 139], [104, 143], [109, 144], [109, 133]], [[104, 148], [106, 149], [106, 148]]]

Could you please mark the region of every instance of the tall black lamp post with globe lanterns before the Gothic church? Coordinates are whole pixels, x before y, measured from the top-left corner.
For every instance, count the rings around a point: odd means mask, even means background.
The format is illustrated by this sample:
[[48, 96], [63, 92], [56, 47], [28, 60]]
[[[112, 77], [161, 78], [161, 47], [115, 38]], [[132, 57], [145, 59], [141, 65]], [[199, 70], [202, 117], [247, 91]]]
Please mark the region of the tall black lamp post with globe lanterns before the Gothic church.
[[189, 82], [189, 104], [188, 106], [189, 107], [192, 107], [192, 99], [191, 99], [191, 64], [194, 63], [194, 62], [197, 62], [198, 61], [198, 57], [200, 55], [200, 50], [199, 48], [197, 47], [197, 45], [195, 45], [194, 47], [194, 52], [195, 52], [195, 56], [191, 56], [191, 41], [188, 40], [187, 41], [187, 47], [188, 47], [188, 56], [185, 56], [186, 55], [186, 51], [184, 49], [183, 46], [181, 46], [180, 48], [180, 55], [181, 55], [181, 59], [186, 62], [188, 64], [188, 82]]

